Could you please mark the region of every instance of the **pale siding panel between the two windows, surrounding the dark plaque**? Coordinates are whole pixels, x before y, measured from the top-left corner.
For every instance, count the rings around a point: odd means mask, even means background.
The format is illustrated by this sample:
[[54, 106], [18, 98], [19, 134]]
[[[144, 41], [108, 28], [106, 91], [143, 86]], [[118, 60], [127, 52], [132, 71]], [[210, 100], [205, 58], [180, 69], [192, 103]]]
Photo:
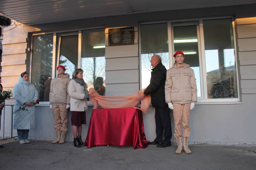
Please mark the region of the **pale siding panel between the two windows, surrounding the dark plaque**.
[[134, 26], [134, 45], [108, 46], [106, 28], [106, 95], [124, 96], [139, 91], [138, 26]]

